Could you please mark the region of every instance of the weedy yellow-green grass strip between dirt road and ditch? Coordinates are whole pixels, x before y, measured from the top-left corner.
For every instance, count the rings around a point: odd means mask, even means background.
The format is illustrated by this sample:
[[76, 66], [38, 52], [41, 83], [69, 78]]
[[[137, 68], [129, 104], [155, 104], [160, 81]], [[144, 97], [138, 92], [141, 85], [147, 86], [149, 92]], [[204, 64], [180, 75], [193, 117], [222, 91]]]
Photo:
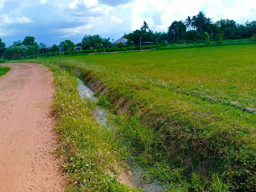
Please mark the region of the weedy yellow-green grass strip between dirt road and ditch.
[[76, 76], [55, 65], [47, 66], [54, 72], [53, 108], [61, 140], [59, 158], [68, 178], [66, 192], [136, 191], [118, 180], [126, 159], [121, 151], [126, 149], [122, 149], [111, 132], [95, 122], [92, 117], [95, 105], [81, 100]]

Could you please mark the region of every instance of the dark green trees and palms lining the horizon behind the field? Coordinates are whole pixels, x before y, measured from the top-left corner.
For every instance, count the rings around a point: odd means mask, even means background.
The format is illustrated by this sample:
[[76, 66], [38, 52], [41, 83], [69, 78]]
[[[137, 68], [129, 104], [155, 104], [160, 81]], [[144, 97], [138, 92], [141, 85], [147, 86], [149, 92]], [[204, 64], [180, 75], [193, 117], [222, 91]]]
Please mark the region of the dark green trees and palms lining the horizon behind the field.
[[[147, 22], [143, 22], [140, 29], [137, 29], [131, 33], [124, 34], [123, 38], [128, 39], [126, 45], [119, 43], [117, 46], [131, 47], [140, 45], [142, 42], [153, 42], [155, 44], [168, 43], [194, 43], [194, 42], [206, 42], [210, 43], [212, 40], [217, 40], [222, 43], [225, 39], [244, 39], [250, 38], [255, 41], [256, 39], [256, 21], [246, 22], [245, 24], [238, 24], [234, 20], [221, 19], [216, 22], [212, 22], [210, 18], [207, 18], [205, 14], [200, 11], [197, 15], [188, 16], [184, 21], [173, 21], [168, 27], [167, 32], [153, 32]], [[112, 39], [112, 42], [114, 40]], [[25, 45], [27, 49], [20, 46]], [[65, 40], [60, 42], [59, 45], [52, 45], [52, 52], [57, 52], [60, 47], [63, 47], [65, 51], [73, 51], [75, 46], [81, 46], [85, 49], [100, 49], [111, 47], [110, 37], [102, 38], [99, 35], [85, 35], [80, 43], [75, 44], [71, 40]], [[5, 43], [0, 39], [0, 53], [3, 52]], [[23, 41], [18, 40], [13, 42], [12, 46], [5, 50], [7, 57], [12, 56], [37, 56], [39, 54], [39, 48], [44, 48], [44, 43], [37, 44], [35, 37], [26, 36]]]

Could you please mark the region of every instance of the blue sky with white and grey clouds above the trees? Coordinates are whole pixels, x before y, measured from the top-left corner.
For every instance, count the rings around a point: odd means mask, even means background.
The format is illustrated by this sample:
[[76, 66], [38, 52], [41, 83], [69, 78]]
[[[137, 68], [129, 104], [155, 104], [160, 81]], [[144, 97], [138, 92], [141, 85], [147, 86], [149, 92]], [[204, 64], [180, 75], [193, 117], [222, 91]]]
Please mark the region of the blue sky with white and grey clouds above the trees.
[[174, 20], [203, 11], [213, 21], [256, 20], [254, 0], [0, 0], [0, 38], [7, 46], [34, 36], [47, 46], [99, 34], [117, 40], [149, 23], [167, 31]]

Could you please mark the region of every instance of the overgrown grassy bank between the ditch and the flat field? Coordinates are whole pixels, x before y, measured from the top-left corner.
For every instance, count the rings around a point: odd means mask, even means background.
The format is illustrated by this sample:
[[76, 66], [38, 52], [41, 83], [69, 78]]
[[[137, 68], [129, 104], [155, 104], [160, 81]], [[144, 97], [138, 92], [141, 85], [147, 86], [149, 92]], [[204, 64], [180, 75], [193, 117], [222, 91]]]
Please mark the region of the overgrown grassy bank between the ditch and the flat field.
[[120, 156], [142, 166], [145, 175], [157, 178], [166, 191], [255, 190], [256, 153], [250, 125], [208, 112], [187, 112], [177, 108], [182, 103], [164, 98], [160, 102], [154, 95], [148, 100], [141, 91], [158, 87], [144, 82], [129, 85], [120, 79], [113, 86], [104, 81], [104, 76], [111, 78], [104, 74], [107, 69], [96, 65], [48, 65], [76, 73], [88, 83], [99, 97], [98, 105], [112, 111], [110, 121], [118, 127], [112, 136], [122, 146]]

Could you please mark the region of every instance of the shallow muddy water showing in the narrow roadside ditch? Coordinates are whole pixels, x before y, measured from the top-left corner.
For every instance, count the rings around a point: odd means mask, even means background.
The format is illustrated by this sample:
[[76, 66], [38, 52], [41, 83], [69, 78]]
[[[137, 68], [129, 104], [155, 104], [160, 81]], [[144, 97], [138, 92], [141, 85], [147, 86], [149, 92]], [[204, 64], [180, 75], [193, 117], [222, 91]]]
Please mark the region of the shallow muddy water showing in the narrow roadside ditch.
[[[93, 91], [89, 87], [85, 86], [83, 81], [80, 79], [77, 80], [78, 91], [81, 99], [90, 99], [93, 102], [97, 102], [98, 98], [94, 97]], [[105, 126], [107, 129], [110, 129], [111, 126], [108, 124], [108, 115], [108, 112], [99, 106], [96, 106], [93, 112], [96, 122]], [[131, 175], [129, 174], [130, 171], [124, 171], [122, 174], [126, 174], [127, 178], [131, 178], [133, 186], [141, 188], [143, 192], [160, 192], [164, 190], [164, 187], [158, 185], [157, 182], [150, 182], [146, 177], [144, 177], [144, 171], [138, 164], [136, 165], [136, 168], [130, 162], [127, 162], [127, 165], [132, 170]]]

